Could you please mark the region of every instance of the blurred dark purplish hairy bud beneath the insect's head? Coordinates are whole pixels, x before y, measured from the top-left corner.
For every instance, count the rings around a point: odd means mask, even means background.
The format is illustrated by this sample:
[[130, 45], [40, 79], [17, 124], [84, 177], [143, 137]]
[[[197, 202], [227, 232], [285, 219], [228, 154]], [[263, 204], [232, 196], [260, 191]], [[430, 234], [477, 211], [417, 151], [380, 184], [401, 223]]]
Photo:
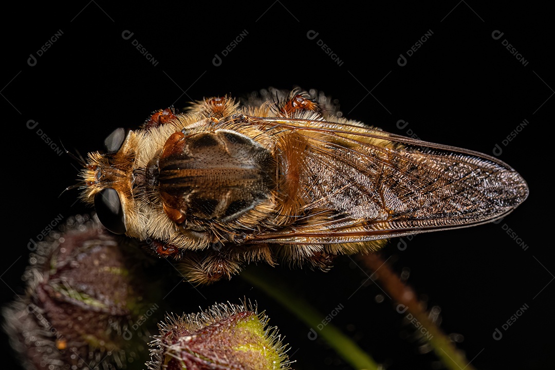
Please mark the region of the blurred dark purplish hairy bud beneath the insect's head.
[[37, 245], [26, 295], [3, 310], [24, 368], [142, 368], [158, 305], [137, 246], [127, 243], [75, 216]]

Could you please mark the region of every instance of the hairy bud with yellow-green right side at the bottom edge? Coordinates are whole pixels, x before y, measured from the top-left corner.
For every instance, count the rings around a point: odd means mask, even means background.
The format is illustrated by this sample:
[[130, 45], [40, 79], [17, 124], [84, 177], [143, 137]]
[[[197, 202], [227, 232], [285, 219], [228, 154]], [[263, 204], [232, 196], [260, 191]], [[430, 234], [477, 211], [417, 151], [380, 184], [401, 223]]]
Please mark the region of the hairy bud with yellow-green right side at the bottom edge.
[[204, 312], [168, 316], [151, 343], [152, 370], [288, 369], [286, 345], [250, 302], [219, 303]]

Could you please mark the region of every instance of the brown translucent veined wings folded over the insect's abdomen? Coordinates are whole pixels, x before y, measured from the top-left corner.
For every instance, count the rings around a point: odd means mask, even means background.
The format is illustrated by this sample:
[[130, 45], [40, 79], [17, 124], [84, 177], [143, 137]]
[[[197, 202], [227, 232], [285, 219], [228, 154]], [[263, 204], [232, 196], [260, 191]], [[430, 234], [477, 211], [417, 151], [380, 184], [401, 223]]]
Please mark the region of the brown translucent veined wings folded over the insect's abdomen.
[[248, 120], [304, 148], [300, 216], [252, 242], [335, 244], [474, 226], [528, 195], [516, 171], [474, 151], [320, 120]]

